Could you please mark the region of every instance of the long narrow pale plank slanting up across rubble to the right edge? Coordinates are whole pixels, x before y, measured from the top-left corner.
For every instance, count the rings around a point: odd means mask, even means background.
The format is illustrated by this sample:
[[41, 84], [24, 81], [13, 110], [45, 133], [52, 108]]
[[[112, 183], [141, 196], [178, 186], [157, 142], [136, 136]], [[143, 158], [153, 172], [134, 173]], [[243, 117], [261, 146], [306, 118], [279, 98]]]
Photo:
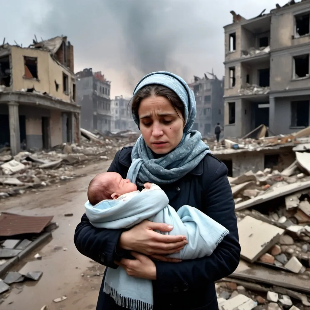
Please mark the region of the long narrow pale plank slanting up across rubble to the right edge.
[[310, 181], [294, 183], [284, 185], [278, 188], [274, 188], [272, 191], [268, 191], [265, 194], [259, 195], [255, 198], [249, 199], [247, 201], [243, 201], [237, 203], [235, 206], [235, 211], [243, 210], [252, 206], [256, 206], [265, 201], [269, 201], [278, 197], [287, 196], [292, 193], [301, 191], [303, 189], [310, 188]]

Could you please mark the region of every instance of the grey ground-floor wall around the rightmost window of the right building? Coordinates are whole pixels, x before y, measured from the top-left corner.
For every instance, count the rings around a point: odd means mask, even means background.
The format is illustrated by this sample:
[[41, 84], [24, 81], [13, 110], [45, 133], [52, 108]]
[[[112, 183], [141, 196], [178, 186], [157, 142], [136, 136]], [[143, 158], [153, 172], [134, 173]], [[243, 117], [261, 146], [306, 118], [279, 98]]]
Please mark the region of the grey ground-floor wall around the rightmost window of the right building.
[[[275, 118], [274, 118], [274, 134], [291, 134], [297, 132], [300, 128], [290, 127], [291, 123], [291, 112], [290, 103], [291, 101], [298, 100], [310, 100], [310, 96], [304, 97], [285, 97], [275, 99]], [[309, 112], [310, 114], [310, 112]], [[310, 115], [309, 115], [310, 119]], [[310, 125], [310, 124], [309, 124]]]

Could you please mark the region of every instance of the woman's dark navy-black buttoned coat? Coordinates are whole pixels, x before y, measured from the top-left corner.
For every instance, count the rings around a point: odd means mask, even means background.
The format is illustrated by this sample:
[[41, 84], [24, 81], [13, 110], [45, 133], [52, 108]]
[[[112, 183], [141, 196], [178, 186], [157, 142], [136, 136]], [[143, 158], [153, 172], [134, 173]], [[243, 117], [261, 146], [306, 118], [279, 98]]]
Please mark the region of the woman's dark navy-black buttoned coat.
[[[131, 149], [126, 147], [115, 155], [108, 171], [118, 172], [126, 178], [131, 164]], [[230, 275], [238, 266], [240, 245], [234, 201], [227, 179], [227, 167], [216, 157], [207, 154], [190, 173], [179, 181], [162, 186], [170, 206], [178, 210], [183, 205], [196, 207], [229, 230], [229, 235], [212, 255], [167, 263], [155, 261], [157, 280], [153, 281], [154, 310], [217, 310], [214, 282]], [[99, 229], [93, 227], [86, 215], [78, 224], [74, 243], [83, 255], [111, 268], [117, 268], [113, 260], [125, 254], [116, 253], [122, 229]], [[102, 282], [104, 283], [104, 282]], [[97, 310], [125, 309], [113, 299], [99, 292]]]

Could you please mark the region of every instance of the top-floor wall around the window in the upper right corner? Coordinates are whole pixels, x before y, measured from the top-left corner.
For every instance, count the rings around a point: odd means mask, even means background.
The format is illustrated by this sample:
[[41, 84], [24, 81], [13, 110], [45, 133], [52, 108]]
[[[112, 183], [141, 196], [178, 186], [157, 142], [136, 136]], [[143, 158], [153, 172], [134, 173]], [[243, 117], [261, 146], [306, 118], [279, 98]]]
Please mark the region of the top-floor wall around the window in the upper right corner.
[[[271, 17], [271, 49], [290, 47], [304, 43], [310, 43], [310, 36], [294, 38], [295, 18], [294, 14], [307, 12], [310, 9], [309, 2], [295, 4], [289, 9], [278, 11]], [[292, 37], [293, 36], [293, 37]]]

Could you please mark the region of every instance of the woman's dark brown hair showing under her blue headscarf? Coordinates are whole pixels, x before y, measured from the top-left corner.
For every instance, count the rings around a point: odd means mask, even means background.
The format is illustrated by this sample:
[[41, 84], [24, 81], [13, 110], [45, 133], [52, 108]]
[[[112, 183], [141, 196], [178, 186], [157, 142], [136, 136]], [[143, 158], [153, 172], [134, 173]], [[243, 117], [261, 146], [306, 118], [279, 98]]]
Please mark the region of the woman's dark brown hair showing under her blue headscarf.
[[185, 119], [184, 103], [179, 96], [166, 86], [150, 84], [142, 87], [130, 100], [129, 104], [131, 105], [131, 113], [137, 118], [137, 120], [139, 120], [138, 110], [141, 101], [151, 96], [162, 96], [167, 98], [175, 109], [175, 112], [177, 112], [176, 109], [178, 109], [182, 113], [183, 119]]

